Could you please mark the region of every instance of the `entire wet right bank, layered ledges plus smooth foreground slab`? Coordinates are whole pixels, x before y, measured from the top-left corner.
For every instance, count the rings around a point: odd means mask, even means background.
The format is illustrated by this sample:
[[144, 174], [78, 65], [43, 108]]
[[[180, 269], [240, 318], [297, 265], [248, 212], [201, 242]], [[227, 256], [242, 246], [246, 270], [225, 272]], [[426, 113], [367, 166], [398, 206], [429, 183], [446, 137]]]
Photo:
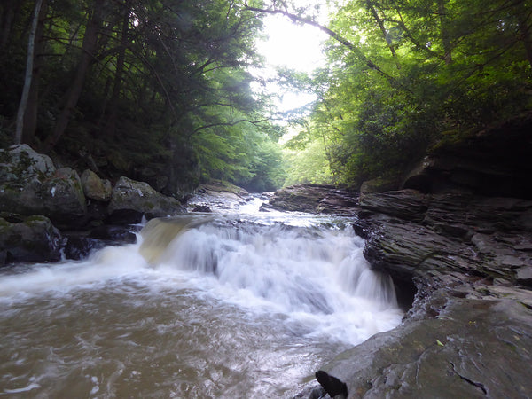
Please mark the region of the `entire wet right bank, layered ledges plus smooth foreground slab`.
[[529, 397], [532, 201], [400, 190], [363, 193], [345, 212], [372, 267], [417, 293], [402, 325], [339, 354], [321, 380], [348, 398]]

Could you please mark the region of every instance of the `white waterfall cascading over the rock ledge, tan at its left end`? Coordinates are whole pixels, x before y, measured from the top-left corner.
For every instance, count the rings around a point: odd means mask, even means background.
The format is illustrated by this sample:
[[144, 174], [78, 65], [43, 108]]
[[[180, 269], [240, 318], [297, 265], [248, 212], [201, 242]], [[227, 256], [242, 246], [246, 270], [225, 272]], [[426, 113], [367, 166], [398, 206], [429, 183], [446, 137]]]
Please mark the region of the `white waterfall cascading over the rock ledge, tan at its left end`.
[[[321, 319], [327, 329], [338, 323], [347, 340], [379, 331], [383, 312], [397, 314], [391, 278], [370, 269], [364, 241], [349, 227], [207, 217], [192, 224], [187, 216], [154, 219], [141, 236], [140, 254], [154, 268], [213, 278], [209, 289], [244, 306]], [[367, 332], [353, 332], [342, 317], [355, 325], [374, 320]]]

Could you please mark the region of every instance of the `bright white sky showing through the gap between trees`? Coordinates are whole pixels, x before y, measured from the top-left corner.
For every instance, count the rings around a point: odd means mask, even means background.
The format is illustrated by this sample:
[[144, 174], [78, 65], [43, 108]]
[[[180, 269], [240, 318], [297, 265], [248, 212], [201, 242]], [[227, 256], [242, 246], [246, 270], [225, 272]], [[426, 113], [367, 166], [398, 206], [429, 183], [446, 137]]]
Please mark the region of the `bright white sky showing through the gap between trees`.
[[[309, 3], [312, 2], [302, 2], [301, 5], [310, 5]], [[316, 3], [320, 2], [316, 0]], [[282, 15], [267, 15], [263, 20], [263, 26], [267, 37], [257, 43], [257, 50], [265, 57], [267, 70], [262, 71], [261, 75], [275, 76], [274, 71], [278, 66], [308, 74], [317, 67], [325, 66], [321, 45], [327, 39], [327, 35], [317, 27], [293, 24]], [[316, 99], [312, 93], [284, 92], [274, 83], [270, 83], [266, 90], [282, 96], [280, 101], [275, 101], [281, 112], [305, 106]]]

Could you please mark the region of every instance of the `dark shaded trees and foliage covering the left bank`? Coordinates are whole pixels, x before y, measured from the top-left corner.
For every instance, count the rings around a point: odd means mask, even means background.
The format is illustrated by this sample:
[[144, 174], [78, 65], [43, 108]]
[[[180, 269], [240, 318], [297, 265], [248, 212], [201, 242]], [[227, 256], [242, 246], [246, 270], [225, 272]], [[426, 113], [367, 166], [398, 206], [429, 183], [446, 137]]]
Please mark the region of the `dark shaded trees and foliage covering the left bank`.
[[[96, 166], [101, 175], [130, 176], [176, 195], [176, 182], [193, 186], [199, 178], [282, 184], [274, 161], [279, 131], [263, 116], [270, 111], [252, 95], [246, 72], [260, 63], [254, 38], [262, 23], [253, 12], [222, 0], [45, 4], [29, 144], [51, 145], [52, 156], [77, 168]], [[28, 0], [0, 4], [7, 22], [0, 29], [3, 141], [20, 100], [33, 7]], [[67, 128], [57, 133], [63, 114]]]

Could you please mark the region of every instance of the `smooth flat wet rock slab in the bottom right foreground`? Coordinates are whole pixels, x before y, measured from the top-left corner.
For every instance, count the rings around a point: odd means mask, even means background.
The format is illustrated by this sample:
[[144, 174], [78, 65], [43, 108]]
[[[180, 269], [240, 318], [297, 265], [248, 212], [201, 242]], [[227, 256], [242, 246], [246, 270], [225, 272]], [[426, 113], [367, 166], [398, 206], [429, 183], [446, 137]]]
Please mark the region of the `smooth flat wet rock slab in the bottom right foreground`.
[[442, 290], [426, 302], [439, 309], [435, 317], [412, 317], [379, 333], [325, 372], [346, 382], [348, 398], [529, 397], [530, 302], [448, 295]]

